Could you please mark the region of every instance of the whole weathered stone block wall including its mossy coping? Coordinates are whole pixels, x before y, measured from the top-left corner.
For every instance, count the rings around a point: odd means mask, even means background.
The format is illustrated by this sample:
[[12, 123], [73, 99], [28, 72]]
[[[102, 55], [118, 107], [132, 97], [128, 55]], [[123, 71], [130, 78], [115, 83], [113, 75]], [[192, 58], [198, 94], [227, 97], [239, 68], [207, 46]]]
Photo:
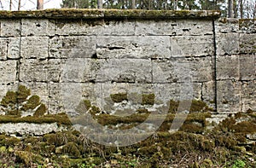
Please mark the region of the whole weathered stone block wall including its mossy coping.
[[255, 111], [255, 20], [218, 16], [217, 11], [0, 13], [0, 98], [23, 84], [49, 113], [73, 113], [83, 99], [104, 108], [110, 94], [131, 90], [154, 93], [161, 101], [193, 96], [217, 107], [216, 117]]

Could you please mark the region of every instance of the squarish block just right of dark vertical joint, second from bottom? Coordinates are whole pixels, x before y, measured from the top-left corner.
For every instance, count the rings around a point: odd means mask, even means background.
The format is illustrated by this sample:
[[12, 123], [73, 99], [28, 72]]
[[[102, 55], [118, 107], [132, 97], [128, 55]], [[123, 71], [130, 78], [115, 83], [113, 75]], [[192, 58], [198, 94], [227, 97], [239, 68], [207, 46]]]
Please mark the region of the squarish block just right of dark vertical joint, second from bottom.
[[217, 56], [217, 79], [239, 79], [239, 55]]

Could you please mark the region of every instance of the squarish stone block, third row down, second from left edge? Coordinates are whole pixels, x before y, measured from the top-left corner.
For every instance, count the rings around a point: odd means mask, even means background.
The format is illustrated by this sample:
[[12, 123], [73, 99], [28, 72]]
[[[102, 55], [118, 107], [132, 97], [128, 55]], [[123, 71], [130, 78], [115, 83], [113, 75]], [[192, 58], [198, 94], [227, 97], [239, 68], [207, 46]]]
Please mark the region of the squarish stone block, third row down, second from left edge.
[[38, 59], [23, 59], [20, 61], [20, 81], [47, 82], [48, 61]]

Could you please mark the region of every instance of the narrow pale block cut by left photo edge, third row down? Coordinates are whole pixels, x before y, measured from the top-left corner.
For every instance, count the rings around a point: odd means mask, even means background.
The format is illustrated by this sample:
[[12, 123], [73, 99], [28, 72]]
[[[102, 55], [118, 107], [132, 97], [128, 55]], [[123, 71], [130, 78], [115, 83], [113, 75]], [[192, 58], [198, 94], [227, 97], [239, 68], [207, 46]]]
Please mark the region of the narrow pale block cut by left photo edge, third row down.
[[0, 84], [15, 83], [17, 80], [17, 61], [0, 61]]

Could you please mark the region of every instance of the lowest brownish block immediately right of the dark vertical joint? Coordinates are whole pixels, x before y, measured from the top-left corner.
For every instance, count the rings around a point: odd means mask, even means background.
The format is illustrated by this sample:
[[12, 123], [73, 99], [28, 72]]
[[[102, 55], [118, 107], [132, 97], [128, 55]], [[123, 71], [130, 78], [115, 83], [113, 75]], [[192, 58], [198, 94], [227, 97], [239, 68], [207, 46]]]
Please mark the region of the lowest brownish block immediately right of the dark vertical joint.
[[241, 82], [222, 80], [217, 82], [218, 113], [241, 112]]

